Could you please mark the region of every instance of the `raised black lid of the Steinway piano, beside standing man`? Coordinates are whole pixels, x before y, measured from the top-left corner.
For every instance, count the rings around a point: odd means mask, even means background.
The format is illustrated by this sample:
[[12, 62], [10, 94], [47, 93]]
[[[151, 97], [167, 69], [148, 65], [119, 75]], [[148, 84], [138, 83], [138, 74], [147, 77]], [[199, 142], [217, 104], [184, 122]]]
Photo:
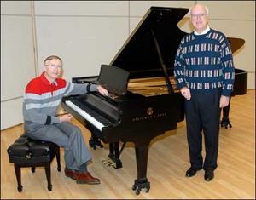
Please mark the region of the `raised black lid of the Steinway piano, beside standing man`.
[[164, 71], [154, 43], [155, 36], [162, 60], [171, 76], [178, 44], [187, 34], [178, 28], [177, 23], [188, 11], [189, 9], [165, 7], [148, 9], [110, 65], [129, 71], [130, 78], [162, 77]]

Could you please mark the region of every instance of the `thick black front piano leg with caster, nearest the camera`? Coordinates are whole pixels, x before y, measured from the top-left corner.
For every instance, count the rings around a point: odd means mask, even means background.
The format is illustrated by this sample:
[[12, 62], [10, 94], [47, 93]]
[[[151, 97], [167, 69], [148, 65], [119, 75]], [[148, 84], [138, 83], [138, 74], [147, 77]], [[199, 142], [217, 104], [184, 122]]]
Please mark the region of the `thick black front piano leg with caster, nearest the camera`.
[[147, 164], [148, 164], [148, 146], [136, 146], [136, 160], [137, 160], [137, 179], [134, 181], [132, 190], [139, 195], [143, 188], [146, 192], [150, 189], [150, 182], [147, 179]]

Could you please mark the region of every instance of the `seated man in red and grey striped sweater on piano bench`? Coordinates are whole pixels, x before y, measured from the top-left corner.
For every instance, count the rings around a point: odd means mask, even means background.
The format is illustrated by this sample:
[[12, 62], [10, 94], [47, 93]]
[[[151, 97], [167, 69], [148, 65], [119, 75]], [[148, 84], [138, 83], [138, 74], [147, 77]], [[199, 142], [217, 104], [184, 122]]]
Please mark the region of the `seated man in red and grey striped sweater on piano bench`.
[[44, 72], [26, 85], [23, 103], [24, 129], [35, 140], [51, 141], [65, 149], [65, 174], [77, 183], [100, 184], [87, 171], [90, 151], [84, 143], [81, 130], [70, 123], [71, 114], [57, 116], [61, 98], [71, 94], [99, 91], [108, 95], [100, 85], [75, 84], [59, 78], [62, 60], [50, 55], [44, 60]]

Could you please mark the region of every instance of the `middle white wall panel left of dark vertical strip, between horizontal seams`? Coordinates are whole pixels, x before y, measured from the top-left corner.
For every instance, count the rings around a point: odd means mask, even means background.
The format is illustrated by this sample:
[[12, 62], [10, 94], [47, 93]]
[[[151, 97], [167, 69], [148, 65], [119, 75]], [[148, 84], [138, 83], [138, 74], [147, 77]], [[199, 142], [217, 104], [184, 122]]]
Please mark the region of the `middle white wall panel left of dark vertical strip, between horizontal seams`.
[[35, 76], [33, 56], [31, 17], [2, 16], [1, 100], [23, 95], [27, 81]]

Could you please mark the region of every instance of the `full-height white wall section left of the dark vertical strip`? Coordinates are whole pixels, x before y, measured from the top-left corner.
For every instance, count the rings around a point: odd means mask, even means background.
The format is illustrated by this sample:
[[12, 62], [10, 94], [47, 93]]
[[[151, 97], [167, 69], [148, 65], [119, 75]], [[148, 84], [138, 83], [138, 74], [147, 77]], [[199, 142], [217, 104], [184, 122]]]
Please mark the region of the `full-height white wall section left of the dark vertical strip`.
[[34, 77], [31, 3], [1, 1], [1, 129], [23, 122], [26, 83]]

